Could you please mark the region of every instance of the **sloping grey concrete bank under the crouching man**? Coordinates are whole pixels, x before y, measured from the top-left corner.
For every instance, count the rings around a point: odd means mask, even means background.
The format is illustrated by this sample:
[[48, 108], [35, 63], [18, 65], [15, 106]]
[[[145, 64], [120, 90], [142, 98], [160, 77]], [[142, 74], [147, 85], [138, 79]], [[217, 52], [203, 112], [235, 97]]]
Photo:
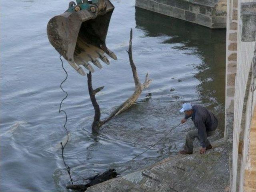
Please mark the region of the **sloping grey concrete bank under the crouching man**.
[[223, 192], [230, 190], [228, 148], [214, 142], [200, 155], [177, 155], [148, 168], [92, 186], [86, 192]]

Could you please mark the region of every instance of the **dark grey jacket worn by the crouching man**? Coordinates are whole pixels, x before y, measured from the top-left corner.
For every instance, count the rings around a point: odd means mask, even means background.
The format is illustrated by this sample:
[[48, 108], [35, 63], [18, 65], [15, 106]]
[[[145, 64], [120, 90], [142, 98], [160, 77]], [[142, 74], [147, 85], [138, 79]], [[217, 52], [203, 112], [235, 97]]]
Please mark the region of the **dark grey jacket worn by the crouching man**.
[[198, 138], [202, 147], [206, 147], [207, 132], [216, 130], [218, 126], [218, 120], [212, 112], [200, 105], [193, 105], [192, 116], [186, 116], [185, 119], [191, 117], [194, 125], [198, 129]]

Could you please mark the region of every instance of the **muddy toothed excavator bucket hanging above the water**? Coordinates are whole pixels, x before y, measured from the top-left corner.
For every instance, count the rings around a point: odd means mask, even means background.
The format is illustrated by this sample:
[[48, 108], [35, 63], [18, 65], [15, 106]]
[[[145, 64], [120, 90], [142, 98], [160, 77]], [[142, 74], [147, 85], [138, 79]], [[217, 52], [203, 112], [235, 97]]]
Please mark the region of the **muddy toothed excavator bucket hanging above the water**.
[[68, 10], [53, 17], [47, 25], [50, 43], [81, 75], [81, 66], [94, 72], [92, 64], [102, 68], [99, 59], [110, 64], [106, 54], [117, 60], [106, 47], [106, 35], [114, 6], [109, 0], [76, 0]]

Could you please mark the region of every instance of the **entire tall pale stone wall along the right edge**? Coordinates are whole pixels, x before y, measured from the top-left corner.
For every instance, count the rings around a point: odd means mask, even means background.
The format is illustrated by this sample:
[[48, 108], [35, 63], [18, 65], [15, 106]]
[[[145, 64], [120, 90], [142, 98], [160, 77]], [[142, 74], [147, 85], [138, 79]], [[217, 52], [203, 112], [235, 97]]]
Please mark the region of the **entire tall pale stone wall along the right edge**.
[[256, 57], [256, 0], [228, 0], [227, 6], [224, 135], [232, 143], [231, 191], [256, 191], [256, 179], [251, 179], [256, 175], [255, 160], [251, 161], [255, 148], [251, 121], [256, 92], [251, 88], [256, 77], [252, 65]]

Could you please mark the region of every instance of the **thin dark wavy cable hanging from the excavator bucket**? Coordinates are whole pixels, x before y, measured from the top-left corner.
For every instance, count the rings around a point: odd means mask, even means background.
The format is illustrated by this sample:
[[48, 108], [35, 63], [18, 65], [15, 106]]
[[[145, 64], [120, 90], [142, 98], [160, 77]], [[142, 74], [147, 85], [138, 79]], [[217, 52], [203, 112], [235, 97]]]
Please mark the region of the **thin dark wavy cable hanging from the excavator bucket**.
[[65, 143], [64, 145], [62, 144], [62, 142], [60, 142], [60, 144], [61, 144], [61, 150], [62, 150], [62, 159], [63, 159], [64, 165], [65, 165], [65, 167], [66, 167], [66, 169], [67, 169], [67, 171], [68, 171], [68, 175], [69, 175], [69, 177], [70, 177], [70, 181], [71, 181], [71, 183], [73, 184], [73, 180], [72, 180], [71, 175], [70, 175], [70, 167], [66, 164], [66, 162], [65, 162], [65, 160], [64, 160], [64, 148], [66, 147], [66, 145], [67, 145], [67, 143], [68, 143], [68, 140], [69, 140], [68, 129], [66, 128], [66, 124], [67, 124], [67, 121], [68, 121], [68, 117], [67, 117], [66, 112], [65, 112], [64, 110], [61, 110], [61, 105], [62, 105], [62, 102], [68, 97], [68, 93], [67, 93], [66, 91], [64, 91], [64, 89], [62, 88], [62, 84], [63, 84], [63, 83], [67, 80], [67, 78], [68, 78], [68, 73], [67, 73], [67, 71], [65, 70], [65, 68], [64, 68], [64, 66], [63, 66], [63, 61], [62, 61], [62, 59], [61, 59], [61, 56], [62, 56], [62, 55], [60, 55], [60, 61], [61, 61], [62, 68], [63, 68], [63, 70], [64, 70], [65, 73], [66, 73], [66, 78], [61, 82], [60, 88], [61, 88], [61, 90], [62, 90], [64, 93], [66, 93], [66, 96], [65, 96], [65, 97], [62, 99], [62, 101], [60, 102], [59, 113], [60, 113], [60, 112], [64, 112], [65, 117], [66, 117], [66, 121], [65, 121], [65, 124], [64, 124], [63, 127], [64, 127], [64, 129], [66, 130], [66, 133], [67, 133], [67, 140], [66, 140], [66, 143]]

